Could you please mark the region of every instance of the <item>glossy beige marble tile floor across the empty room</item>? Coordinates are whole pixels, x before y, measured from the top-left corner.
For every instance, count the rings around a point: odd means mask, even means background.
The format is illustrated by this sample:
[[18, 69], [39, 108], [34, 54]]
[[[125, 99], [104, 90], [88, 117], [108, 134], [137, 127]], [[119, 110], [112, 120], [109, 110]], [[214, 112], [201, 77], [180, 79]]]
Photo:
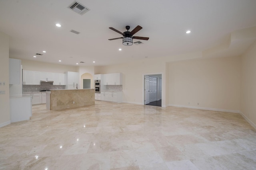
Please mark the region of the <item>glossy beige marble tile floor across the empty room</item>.
[[256, 131], [238, 113], [96, 101], [0, 128], [1, 170], [252, 170]]

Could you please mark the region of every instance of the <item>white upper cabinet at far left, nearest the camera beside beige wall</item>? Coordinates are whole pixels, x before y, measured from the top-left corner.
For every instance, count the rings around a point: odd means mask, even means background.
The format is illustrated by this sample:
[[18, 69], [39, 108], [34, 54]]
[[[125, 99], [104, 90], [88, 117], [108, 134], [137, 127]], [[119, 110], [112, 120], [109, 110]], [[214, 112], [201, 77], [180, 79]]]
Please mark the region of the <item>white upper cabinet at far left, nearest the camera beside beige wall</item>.
[[9, 59], [9, 84], [20, 84], [19, 59]]

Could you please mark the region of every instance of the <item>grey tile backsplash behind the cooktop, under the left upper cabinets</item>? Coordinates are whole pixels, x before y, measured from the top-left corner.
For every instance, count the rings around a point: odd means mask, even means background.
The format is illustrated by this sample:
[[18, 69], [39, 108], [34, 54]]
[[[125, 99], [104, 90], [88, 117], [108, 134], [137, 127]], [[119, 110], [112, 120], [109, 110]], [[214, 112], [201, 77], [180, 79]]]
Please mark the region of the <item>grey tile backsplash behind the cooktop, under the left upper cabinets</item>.
[[41, 90], [65, 89], [64, 85], [53, 85], [52, 83], [41, 83], [41, 85], [22, 85], [23, 92], [40, 92]]

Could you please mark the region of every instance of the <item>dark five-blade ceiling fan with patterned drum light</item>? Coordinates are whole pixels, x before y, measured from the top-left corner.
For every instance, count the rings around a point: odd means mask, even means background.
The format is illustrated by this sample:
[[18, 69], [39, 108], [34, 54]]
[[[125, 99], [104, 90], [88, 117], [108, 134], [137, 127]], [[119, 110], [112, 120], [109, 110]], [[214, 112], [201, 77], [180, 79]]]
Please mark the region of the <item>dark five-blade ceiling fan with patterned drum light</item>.
[[132, 45], [132, 39], [142, 39], [142, 40], [148, 40], [148, 37], [136, 37], [133, 36], [136, 32], [140, 31], [140, 29], [142, 29], [142, 27], [140, 25], [138, 25], [137, 27], [135, 27], [132, 31], [128, 31], [130, 29], [130, 26], [126, 26], [125, 27], [127, 29], [127, 31], [125, 31], [124, 33], [114, 29], [113, 27], [109, 27], [109, 29], [112, 29], [113, 31], [116, 31], [117, 33], [122, 34], [124, 37], [119, 37], [119, 38], [112, 38], [112, 39], [108, 39], [108, 40], [114, 40], [114, 39], [123, 39], [123, 45]]

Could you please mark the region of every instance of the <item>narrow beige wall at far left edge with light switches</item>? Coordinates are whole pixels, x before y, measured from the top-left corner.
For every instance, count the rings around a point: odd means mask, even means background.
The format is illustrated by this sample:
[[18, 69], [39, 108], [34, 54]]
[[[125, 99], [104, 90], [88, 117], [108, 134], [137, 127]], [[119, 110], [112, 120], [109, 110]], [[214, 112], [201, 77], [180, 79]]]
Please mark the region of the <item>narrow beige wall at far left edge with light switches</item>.
[[[9, 36], [0, 32], [0, 127], [10, 124], [9, 104]], [[3, 84], [5, 83], [5, 85]]]

